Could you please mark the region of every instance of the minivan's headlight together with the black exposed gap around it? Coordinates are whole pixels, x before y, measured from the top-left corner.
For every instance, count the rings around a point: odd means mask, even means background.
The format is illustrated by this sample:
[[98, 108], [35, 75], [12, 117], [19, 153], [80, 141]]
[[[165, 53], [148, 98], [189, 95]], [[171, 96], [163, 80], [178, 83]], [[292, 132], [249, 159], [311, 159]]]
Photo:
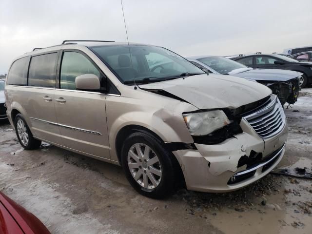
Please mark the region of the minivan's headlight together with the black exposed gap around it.
[[235, 118], [223, 110], [193, 112], [183, 114], [184, 121], [198, 144], [218, 144], [241, 133], [240, 118]]

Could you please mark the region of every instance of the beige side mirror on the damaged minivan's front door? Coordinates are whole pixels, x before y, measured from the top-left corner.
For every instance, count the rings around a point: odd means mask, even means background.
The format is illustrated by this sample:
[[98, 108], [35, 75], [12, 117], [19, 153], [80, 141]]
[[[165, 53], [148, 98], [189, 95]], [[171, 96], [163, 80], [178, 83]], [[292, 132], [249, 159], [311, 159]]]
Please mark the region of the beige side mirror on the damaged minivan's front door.
[[84, 74], [76, 77], [75, 85], [78, 90], [95, 91], [101, 88], [99, 78], [94, 74]]

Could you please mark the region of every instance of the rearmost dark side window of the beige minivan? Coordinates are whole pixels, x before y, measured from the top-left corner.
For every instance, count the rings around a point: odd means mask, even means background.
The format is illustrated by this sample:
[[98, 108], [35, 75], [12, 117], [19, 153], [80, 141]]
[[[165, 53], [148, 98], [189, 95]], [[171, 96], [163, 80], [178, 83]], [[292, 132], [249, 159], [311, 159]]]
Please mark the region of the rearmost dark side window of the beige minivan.
[[8, 84], [27, 85], [27, 70], [29, 57], [16, 60], [7, 77]]

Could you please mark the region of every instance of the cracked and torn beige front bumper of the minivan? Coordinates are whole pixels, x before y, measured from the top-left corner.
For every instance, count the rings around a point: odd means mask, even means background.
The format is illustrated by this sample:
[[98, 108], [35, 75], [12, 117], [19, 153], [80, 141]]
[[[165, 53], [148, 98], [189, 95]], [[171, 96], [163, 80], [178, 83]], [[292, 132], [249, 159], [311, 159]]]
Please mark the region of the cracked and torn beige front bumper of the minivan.
[[[200, 192], [230, 192], [267, 175], [282, 159], [287, 124], [275, 137], [263, 139], [241, 133], [216, 145], [195, 144], [198, 150], [177, 150], [187, 189]], [[256, 153], [261, 159], [238, 167], [239, 159]]]

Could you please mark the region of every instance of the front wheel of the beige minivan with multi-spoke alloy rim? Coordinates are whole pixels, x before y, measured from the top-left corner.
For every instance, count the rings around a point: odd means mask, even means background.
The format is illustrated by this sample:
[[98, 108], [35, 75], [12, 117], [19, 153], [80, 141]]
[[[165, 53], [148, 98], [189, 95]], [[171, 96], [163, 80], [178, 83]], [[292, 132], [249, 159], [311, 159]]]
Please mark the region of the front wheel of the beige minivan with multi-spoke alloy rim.
[[[146, 146], [150, 148], [150, 151], [148, 156], [143, 156], [147, 149]], [[137, 147], [141, 149], [141, 156], [143, 157], [139, 157]], [[135, 159], [133, 154], [138, 157]], [[157, 158], [155, 159], [155, 157]], [[153, 160], [151, 160], [152, 158]], [[147, 161], [145, 162], [144, 159]], [[129, 164], [133, 164], [131, 168]], [[164, 143], [156, 137], [141, 132], [133, 133], [127, 137], [121, 149], [121, 165], [128, 181], [141, 195], [161, 199], [172, 193], [176, 176], [172, 155], [165, 149]], [[139, 172], [139, 170], [141, 171]], [[155, 172], [157, 175], [154, 174]], [[135, 178], [137, 175], [139, 176]], [[154, 183], [150, 176], [155, 179]], [[144, 180], [144, 177], [147, 179]]]

